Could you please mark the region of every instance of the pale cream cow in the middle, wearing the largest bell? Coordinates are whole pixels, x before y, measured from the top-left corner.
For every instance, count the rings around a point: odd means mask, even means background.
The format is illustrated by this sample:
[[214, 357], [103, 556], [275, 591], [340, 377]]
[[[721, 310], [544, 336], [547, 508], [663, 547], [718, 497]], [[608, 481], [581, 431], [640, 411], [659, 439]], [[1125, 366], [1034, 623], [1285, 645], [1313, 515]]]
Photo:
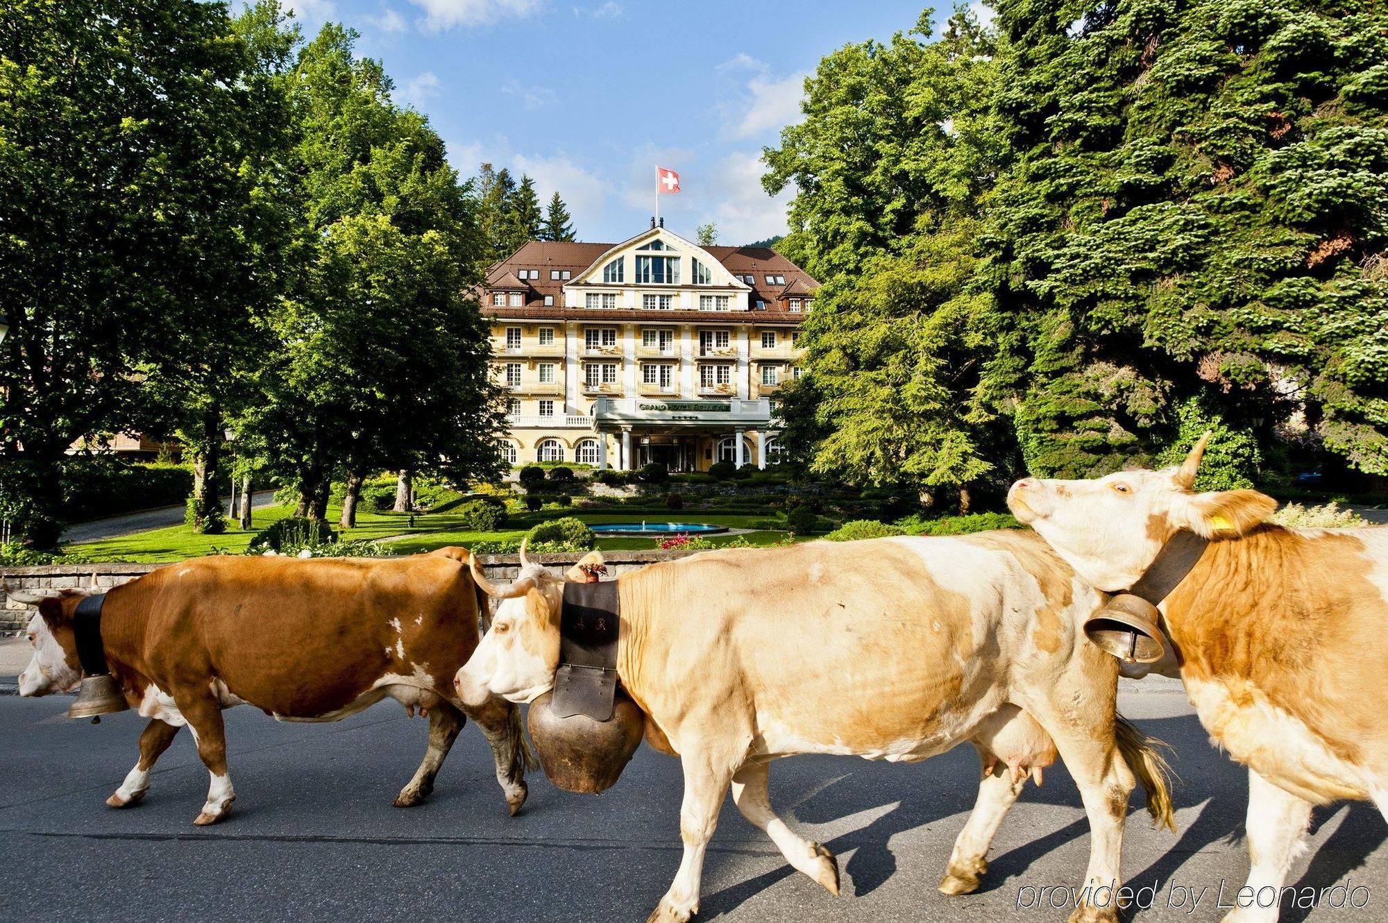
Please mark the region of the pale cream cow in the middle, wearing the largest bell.
[[[564, 580], [522, 561], [507, 590], [477, 575], [502, 602], [458, 672], [464, 702], [529, 702], [554, 683]], [[651, 920], [698, 911], [729, 786], [791, 866], [838, 892], [833, 854], [768, 798], [768, 763], [794, 754], [915, 762], [972, 741], [984, 776], [940, 884], [963, 894], [1027, 776], [1040, 781], [1059, 751], [1092, 831], [1095, 901], [1078, 920], [1117, 919], [1097, 888], [1119, 880], [1134, 772], [1170, 820], [1159, 758], [1115, 712], [1117, 666], [1078, 629], [1101, 597], [1034, 534], [727, 548], [622, 575], [618, 595], [620, 681], [647, 741], [684, 770], [684, 856]]]

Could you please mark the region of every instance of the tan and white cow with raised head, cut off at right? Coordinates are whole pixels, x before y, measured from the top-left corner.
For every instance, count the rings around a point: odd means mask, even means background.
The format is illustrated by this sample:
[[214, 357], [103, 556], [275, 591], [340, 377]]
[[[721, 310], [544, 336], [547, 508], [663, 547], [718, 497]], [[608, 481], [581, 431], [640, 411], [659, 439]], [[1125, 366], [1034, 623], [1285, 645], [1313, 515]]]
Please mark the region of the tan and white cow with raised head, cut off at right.
[[1263, 522], [1277, 504], [1260, 493], [1192, 493], [1208, 439], [1180, 468], [1026, 479], [1008, 502], [1110, 593], [1177, 530], [1210, 539], [1160, 607], [1170, 673], [1249, 768], [1249, 890], [1226, 919], [1270, 922], [1312, 805], [1370, 799], [1388, 816], [1388, 529], [1284, 529]]

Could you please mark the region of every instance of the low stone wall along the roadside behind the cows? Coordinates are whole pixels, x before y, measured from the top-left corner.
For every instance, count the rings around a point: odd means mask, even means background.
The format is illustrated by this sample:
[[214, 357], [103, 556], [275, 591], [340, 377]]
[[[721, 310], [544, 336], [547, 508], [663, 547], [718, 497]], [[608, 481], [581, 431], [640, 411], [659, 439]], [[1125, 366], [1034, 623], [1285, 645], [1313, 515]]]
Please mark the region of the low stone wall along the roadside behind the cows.
[[[691, 551], [604, 551], [602, 557], [608, 565], [608, 576], [618, 576], [627, 570], [644, 568], [655, 561], [670, 561], [694, 554]], [[480, 555], [483, 572], [489, 580], [512, 580], [520, 568], [519, 555], [490, 554]], [[577, 561], [577, 554], [537, 554], [530, 559], [551, 568], [568, 566]], [[47, 568], [0, 568], [0, 634], [11, 634], [22, 630], [33, 615], [33, 607], [10, 600], [6, 586], [12, 590], [33, 594], [51, 594], [56, 590], [90, 587], [93, 579], [99, 590], [110, 590], [114, 586], [144, 576], [164, 564], [83, 564], [57, 565]]]

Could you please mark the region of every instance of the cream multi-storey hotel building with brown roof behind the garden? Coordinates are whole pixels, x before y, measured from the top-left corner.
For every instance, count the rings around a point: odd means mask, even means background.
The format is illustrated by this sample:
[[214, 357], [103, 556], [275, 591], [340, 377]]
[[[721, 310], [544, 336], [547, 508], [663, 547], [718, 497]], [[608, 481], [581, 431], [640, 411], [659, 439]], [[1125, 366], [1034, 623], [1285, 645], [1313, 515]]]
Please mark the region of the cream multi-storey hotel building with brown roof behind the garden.
[[512, 464], [633, 471], [777, 458], [819, 283], [765, 247], [700, 247], [652, 222], [619, 244], [530, 242], [487, 271], [491, 371]]

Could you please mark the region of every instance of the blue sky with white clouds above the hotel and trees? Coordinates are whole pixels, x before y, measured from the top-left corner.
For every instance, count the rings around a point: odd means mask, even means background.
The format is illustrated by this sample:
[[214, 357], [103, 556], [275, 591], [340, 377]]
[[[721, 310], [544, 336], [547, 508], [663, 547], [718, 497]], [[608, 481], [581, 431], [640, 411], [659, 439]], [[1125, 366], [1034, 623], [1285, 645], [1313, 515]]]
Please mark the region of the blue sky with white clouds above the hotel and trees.
[[[305, 32], [361, 33], [396, 96], [429, 115], [464, 176], [489, 160], [558, 189], [580, 240], [648, 225], [655, 164], [676, 233], [705, 221], [719, 243], [786, 230], [783, 194], [761, 189], [762, 146], [799, 118], [801, 82], [848, 42], [909, 29], [902, 0], [290, 0]], [[944, 7], [942, 7], [944, 8]]]

